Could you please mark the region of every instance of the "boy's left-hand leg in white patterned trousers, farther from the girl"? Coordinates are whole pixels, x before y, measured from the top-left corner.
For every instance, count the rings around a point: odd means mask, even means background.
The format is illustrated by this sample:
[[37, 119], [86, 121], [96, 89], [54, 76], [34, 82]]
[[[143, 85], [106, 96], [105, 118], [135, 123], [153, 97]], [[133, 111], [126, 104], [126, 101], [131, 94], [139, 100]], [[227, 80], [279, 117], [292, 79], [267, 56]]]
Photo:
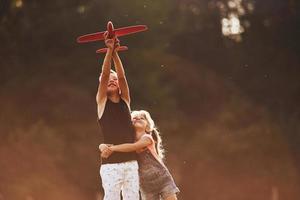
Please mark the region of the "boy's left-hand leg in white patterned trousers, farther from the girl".
[[120, 200], [120, 192], [123, 174], [119, 163], [104, 164], [100, 168], [102, 187], [104, 189], [103, 200]]

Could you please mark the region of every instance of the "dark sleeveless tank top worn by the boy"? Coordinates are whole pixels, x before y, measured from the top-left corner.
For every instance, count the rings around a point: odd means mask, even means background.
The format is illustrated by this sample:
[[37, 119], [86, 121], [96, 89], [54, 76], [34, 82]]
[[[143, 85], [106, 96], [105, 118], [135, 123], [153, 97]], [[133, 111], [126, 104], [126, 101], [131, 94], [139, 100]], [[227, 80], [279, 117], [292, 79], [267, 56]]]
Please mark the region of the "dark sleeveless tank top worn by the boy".
[[[123, 99], [120, 99], [118, 103], [107, 99], [99, 124], [105, 144], [116, 145], [135, 141], [135, 131], [131, 122], [130, 111]], [[113, 152], [109, 158], [102, 159], [102, 163], [120, 163], [131, 160], [136, 160], [135, 152]]]

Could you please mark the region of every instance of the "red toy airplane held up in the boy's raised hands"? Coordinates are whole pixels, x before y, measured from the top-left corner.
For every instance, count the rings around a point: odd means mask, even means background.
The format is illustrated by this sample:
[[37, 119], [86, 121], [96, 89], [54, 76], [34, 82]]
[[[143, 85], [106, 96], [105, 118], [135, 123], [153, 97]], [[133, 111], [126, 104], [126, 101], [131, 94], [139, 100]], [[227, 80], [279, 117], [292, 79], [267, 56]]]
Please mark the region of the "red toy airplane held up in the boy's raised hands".
[[[128, 26], [128, 27], [123, 27], [123, 28], [118, 28], [114, 29], [114, 25], [111, 21], [107, 23], [107, 32], [108, 32], [108, 38], [113, 38], [115, 37], [116, 40], [118, 40], [118, 36], [124, 36], [124, 35], [129, 35], [133, 33], [138, 33], [141, 31], [147, 30], [147, 26], [145, 25], [136, 25], [136, 26]], [[85, 42], [94, 42], [94, 41], [99, 41], [99, 40], [104, 40], [104, 33], [106, 31], [102, 32], [97, 32], [97, 33], [91, 33], [87, 35], [83, 35], [77, 38], [78, 43], [85, 43]], [[125, 51], [127, 50], [127, 46], [121, 46], [119, 48], [119, 51]], [[96, 53], [105, 53], [107, 51], [107, 48], [102, 48], [98, 49]]]

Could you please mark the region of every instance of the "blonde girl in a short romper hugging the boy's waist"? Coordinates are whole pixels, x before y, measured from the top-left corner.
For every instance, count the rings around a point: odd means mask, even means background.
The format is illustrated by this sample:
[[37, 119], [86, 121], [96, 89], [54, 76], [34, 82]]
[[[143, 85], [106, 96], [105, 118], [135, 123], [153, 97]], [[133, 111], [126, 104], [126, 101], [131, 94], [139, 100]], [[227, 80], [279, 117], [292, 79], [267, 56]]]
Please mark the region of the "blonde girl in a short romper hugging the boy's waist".
[[[109, 145], [111, 152], [132, 152], [138, 154], [140, 189], [143, 200], [176, 200], [179, 189], [164, 165], [163, 149], [159, 132], [156, 130], [150, 114], [145, 111], [133, 111], [132, 123], [136, 132], [136, 142]], [[99, 148], [103, 148], [101, 144]]]

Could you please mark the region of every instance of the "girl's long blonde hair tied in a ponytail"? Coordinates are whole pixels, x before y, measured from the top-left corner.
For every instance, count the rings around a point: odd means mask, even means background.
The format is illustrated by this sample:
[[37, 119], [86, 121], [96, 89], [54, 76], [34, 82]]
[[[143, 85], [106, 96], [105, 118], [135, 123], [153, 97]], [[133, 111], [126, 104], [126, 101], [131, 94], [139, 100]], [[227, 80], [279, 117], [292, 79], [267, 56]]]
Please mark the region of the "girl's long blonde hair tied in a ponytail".
[[162, 140], [161, 140], [161, 136], [160, 136], [160, 132], [158, 131], [158, 129], [155, 126], [155, 123], [153, 121], [153, 119], [151, 118], [151, 115], [148, 111], [146, 110], [135, 110], [132, 111], [131, 116], [143, 116], [145, 117], [146, 121], [147, 121], [147, 127], [146, 127], [146, 133], [150, 134], [155, 142], [155, 149], [156, 152], [158, 154], [158, 156], [163, 159], [164, 158], [164, 149], [163, 149], [163, 145], [162, 145]]

